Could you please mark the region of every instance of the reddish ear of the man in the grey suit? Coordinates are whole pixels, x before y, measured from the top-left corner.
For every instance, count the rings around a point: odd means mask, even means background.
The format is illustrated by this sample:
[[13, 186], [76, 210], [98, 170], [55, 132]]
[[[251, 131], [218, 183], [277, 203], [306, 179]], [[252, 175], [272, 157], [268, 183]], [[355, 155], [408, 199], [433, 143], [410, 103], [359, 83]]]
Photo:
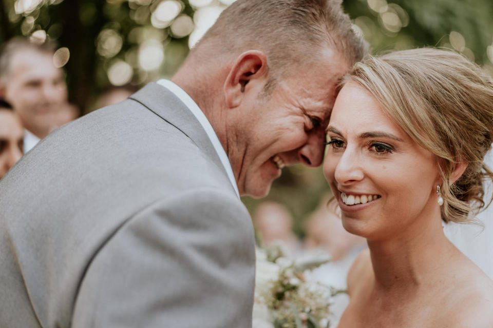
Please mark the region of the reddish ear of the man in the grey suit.
[[255, 81], [262, 83], [267, 78], [267, 57], [258, 50], [243, 52], [236, 58], [224, 82], [224, 95], [229, 108], [238, 107], [245, 92], [252, 89]]

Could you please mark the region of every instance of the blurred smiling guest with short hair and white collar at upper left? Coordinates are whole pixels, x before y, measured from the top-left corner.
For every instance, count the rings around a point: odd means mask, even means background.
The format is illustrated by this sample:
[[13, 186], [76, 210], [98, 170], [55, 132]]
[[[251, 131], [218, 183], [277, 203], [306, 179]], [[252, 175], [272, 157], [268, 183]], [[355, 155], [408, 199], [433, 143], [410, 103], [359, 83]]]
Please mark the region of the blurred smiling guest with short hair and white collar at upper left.
[[[65, 121], [67, 86], [53, 63], [54, 45], [10, 39], [0, 51], [0, 98], [8, 101], [25, 128], [24, 152]], [[62, 116], [62, 118], [60, 118]], [[70, 116], [69, 116], [70, 117]]]

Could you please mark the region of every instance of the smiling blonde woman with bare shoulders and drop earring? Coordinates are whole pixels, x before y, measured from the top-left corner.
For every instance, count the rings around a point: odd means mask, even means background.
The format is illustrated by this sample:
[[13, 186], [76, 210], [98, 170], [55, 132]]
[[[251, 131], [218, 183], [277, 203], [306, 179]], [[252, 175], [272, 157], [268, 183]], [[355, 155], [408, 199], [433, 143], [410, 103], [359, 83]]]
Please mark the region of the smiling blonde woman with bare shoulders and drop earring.
[[485, 207], [491, 104], [493, 80], [443, 50], [369, 57], [346, 76], [324, 173], [344, 228], [369, 252], [348, 274], [339, 327], [493, 325], [493, 282], [441, 225]]

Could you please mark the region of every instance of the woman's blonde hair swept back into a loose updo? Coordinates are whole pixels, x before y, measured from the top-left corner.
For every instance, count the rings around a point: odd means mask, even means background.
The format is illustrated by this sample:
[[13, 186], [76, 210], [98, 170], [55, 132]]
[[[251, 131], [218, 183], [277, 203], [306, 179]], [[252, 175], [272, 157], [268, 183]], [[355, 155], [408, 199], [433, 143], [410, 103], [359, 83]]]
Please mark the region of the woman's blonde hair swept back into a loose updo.
[[[442, 219], [475, 222], [486, 208], [483, 163], [493, 138], [493, 79], [452, 51], [422, 48], [369, 56], [344, 78], [366, 88], [420, 146], [437, 156], [443, 179]], [[450, 183], [460, 162], [462, 176]], [[470, 215], [473, 214], [473, 215]]]

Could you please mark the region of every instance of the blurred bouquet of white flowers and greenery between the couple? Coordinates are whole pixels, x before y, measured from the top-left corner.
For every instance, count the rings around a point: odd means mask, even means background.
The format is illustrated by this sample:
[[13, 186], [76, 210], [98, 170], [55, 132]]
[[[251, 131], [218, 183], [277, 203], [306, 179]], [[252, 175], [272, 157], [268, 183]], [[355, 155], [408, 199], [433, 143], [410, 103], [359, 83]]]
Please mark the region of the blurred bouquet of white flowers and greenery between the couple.
[[257, 249], [253, 328], [328, 328], [335, 291], [310, 279], [329, 261], [314, 254], [290, 260], [279, 247]]

